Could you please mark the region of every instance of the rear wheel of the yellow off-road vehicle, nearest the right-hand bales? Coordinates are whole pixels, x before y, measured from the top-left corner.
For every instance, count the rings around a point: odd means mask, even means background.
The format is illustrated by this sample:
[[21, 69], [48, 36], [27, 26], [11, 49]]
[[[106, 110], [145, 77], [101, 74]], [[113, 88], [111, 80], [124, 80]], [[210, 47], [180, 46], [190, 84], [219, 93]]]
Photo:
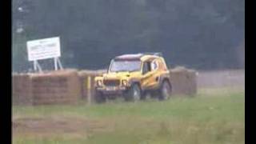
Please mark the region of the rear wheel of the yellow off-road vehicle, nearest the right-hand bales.
[[158, 90], [158, 99], [160, 101], [164, 101], [170, 98], [171, 95], [171, 86], [170, 83], [168, 81], [163, 81], [160, 89]]

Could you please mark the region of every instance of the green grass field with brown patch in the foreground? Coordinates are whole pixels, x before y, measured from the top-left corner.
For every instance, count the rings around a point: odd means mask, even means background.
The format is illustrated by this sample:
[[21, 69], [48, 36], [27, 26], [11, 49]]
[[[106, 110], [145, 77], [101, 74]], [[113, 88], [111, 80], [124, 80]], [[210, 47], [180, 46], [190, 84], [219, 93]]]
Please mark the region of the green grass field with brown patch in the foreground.
[[13, 106], [13, 143], [242, 144], [244, 90], [199, 90], [166, 102]]

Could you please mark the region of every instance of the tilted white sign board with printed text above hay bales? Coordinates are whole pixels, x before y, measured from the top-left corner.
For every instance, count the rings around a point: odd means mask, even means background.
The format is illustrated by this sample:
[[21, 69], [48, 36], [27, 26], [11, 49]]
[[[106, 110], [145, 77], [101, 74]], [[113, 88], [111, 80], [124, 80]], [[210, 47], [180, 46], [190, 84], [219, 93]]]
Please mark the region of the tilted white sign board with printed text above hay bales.
[[59, 37], [28, 41], [26, 47], [29, 61], [61, 56]]

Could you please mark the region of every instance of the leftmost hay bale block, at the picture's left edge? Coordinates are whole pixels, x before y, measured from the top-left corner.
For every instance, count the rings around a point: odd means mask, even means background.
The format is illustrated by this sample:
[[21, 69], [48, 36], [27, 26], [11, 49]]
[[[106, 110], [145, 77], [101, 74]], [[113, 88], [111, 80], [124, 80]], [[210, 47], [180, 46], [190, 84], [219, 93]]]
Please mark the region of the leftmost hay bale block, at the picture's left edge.
[[14, 105], [32, 105], [30, 74], [12, 74], [12, 102]]

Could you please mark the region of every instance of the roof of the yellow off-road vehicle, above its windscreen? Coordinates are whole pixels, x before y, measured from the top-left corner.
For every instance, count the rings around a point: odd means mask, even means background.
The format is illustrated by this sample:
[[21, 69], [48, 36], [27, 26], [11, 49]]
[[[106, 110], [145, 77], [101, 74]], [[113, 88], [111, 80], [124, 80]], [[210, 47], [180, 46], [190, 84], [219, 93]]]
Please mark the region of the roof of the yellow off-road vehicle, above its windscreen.
[[150, 58], [160, 58], [158, 55], [154, 54], [122, 54], [115, 57], [115, 60], [141, 60], [146, 61]]

